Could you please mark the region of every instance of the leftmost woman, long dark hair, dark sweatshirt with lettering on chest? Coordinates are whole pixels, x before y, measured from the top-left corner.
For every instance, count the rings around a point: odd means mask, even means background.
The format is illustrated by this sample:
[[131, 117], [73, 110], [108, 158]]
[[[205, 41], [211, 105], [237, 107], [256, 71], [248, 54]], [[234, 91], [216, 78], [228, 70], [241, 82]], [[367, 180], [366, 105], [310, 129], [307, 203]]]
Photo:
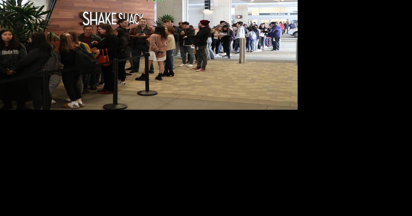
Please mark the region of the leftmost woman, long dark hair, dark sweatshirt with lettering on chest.
[[[16, 73], [16, 64], [26, 55], [26, 48], [19, 42], [9, 29], [0, 30], [0, 80], [20, 76]], [[24, 109], [24, 81], [14, 81], [0, 84], [0, 96], [4, 107], [0, 109], [12, 109], [12, 93], [16, 92], [17, 109]], [[19, 86], [20, 89], [17, 89]], [[23, 106], [22, 106], [23, 105]]]

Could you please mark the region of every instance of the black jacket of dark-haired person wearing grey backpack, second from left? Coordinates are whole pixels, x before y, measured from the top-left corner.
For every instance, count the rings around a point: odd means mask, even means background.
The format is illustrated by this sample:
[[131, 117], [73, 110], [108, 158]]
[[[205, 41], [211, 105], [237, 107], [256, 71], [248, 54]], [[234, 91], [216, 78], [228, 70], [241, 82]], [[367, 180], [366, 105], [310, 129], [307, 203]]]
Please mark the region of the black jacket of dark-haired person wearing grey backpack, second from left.
[[33, 74], [43, 69], [44, 64], [52, 57], [51, 50], [40, 50], [39, 48], [31, 49], [27, 56], [19, 60], [16, 71], [23, 71], [23, 75]]

